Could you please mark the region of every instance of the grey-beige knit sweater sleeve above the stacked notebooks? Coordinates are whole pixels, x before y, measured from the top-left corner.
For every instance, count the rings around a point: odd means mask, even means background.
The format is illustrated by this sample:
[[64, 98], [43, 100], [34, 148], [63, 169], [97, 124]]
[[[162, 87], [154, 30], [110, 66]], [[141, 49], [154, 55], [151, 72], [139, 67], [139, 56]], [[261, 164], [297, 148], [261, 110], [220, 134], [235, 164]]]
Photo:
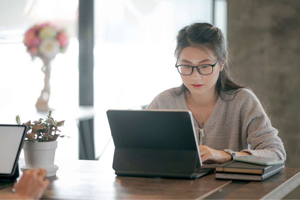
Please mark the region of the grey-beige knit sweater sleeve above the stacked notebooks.
[[[245, 91], [245, 89], [244, 89]], [[283, 142], [277, 136], [278, 130], [272, 127], [271, 121], [261, 103], [252, 91], [244, 92], [247, 100], [242, 105], [243, 127], [247, 129], [248, 152], [254, 156], [286, 160]]]

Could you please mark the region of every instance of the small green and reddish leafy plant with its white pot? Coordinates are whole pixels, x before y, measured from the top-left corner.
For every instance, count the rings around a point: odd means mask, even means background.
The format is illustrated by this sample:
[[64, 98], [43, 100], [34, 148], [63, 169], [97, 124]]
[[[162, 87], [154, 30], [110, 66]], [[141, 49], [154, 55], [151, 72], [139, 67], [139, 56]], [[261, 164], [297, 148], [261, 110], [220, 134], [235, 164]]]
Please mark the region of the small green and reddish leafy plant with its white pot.
[[[19, 115], [16, 116], [16, 123], [21, 124]], [[63, 126], [64, 121], [55, 121], [50, 110], [46, 120], [41, 118], [38, 121], [33, 121], [33, 124], [28, 121], [23, 125], [28, 127], [23, 145], [26, 169], [53, 168], [57, 138], [65, 137], [58, 134], [61, 132], [58, 127]]]

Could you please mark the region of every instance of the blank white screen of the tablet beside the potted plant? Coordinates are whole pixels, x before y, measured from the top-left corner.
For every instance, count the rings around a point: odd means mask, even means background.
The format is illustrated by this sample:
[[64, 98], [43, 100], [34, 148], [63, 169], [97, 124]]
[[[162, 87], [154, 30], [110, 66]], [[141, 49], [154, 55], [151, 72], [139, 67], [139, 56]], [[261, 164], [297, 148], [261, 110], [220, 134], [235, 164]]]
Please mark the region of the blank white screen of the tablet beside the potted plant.
[[25, 127], [0, 126], [0, 174], [11, 174]]

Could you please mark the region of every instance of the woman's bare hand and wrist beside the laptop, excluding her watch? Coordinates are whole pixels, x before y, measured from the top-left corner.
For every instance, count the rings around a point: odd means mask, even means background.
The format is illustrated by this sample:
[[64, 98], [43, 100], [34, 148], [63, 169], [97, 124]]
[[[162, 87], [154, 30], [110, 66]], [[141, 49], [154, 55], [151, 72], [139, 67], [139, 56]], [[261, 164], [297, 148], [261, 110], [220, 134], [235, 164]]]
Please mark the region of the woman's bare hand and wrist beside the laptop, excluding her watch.
[[[231, 155], [225, 151], [215, 150], [205, 145], [199, 145], [199, 151], [201, 155], [201, 161], [203, 164], [222, 164], [231, 160]], [[235, 156], [251, 155], [247, 152], [235, 152]]]

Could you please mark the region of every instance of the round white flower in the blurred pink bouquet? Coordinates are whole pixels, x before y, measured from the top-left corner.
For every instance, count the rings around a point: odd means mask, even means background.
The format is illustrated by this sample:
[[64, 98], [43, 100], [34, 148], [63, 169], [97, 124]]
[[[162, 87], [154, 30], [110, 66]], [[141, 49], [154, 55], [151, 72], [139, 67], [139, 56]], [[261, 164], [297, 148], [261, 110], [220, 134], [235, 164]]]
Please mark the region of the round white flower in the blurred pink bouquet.
[[57, 40], [46, 39], [43, 40], [39, 46], [39, 52], [45, 58], [52, 59], [60, 50], [60, 44]]

